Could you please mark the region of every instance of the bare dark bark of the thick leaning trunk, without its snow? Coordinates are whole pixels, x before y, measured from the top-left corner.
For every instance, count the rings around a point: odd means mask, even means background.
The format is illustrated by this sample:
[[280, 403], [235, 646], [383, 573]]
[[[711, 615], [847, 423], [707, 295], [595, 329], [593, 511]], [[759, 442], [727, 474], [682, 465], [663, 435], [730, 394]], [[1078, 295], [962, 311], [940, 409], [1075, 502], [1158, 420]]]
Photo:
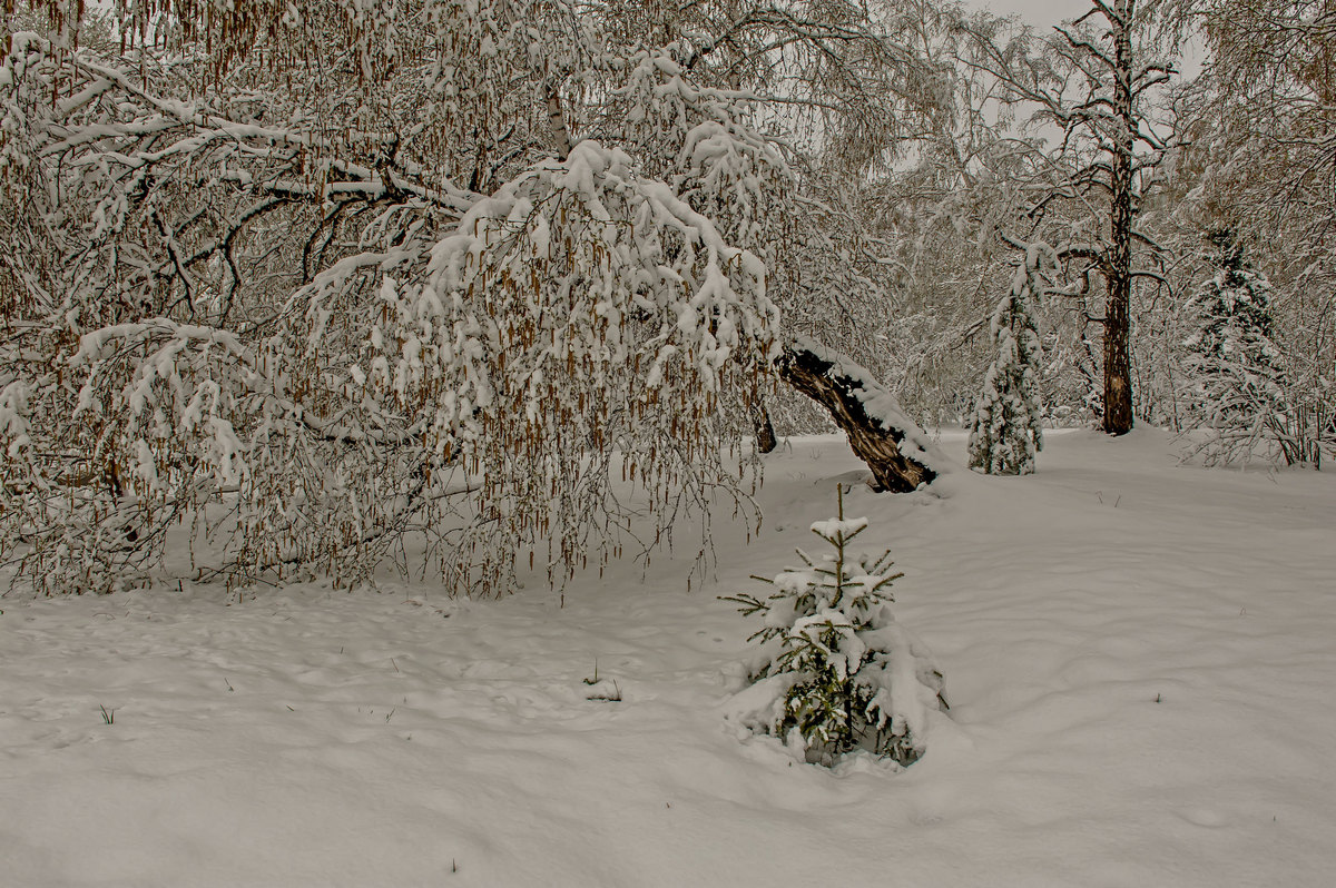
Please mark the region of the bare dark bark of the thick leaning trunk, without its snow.
[[872, 470], [874, 490], [907, 493], [937, 477], [900, 451], [904, 429], [868, 413], [868, 401], [890, 394], [860, 367], [836, 361], [815, 343], [796, 342], [784, 347], [776, 369], [780, 379], [830, 411], [854, 453]]

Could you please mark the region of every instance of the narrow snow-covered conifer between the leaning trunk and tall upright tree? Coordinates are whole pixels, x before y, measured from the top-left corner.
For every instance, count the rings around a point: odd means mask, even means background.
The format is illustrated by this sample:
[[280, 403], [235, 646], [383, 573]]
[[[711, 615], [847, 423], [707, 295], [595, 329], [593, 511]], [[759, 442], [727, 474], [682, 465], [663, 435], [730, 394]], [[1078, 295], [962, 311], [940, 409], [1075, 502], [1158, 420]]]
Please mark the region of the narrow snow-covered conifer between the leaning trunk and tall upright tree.
[[1033, 474], [1034, 454], [1043, 449], [1037, 286], [1037, 250], [1030, 248], [989, 326], [994, 358], [970, 423], [970, 467], [975, 471]]

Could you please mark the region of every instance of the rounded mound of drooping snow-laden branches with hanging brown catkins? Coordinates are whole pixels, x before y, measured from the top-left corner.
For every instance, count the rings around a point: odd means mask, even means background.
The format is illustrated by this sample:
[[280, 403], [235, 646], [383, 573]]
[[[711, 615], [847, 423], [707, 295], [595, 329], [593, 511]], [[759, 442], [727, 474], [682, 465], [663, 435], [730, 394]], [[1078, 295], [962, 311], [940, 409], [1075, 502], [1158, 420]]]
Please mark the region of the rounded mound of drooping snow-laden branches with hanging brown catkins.
[[506, 545], [548, 539], [560, 570], [591, 525], [617, 547], [621, 518], [599, 518], [620, 513], [615, 471], [660, 499], [720, 479], [711, 438], [779, 320], [756, 256], [591, 140], [480, 200], [421, 278], [386, 272], [375, 315], [367, 390], [481, 473], [488, 539], [496, 522]]

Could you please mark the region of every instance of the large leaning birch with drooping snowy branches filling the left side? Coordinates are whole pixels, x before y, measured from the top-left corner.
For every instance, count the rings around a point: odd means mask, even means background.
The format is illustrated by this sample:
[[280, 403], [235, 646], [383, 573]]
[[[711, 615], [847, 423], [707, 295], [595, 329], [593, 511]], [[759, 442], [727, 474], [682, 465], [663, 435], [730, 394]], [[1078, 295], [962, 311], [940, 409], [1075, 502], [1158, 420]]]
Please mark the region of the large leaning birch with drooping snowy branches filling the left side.
[[[0, 60], [0, 561], [47, 592], [184, 534], [232, 584], [411, 537], [485, 594], [745, 513], [749, 405], [824, 355], [786, 236], [931, 100], [856, 5], [37, 5]], [[890, 489], [930, 481], [872, 401]]]

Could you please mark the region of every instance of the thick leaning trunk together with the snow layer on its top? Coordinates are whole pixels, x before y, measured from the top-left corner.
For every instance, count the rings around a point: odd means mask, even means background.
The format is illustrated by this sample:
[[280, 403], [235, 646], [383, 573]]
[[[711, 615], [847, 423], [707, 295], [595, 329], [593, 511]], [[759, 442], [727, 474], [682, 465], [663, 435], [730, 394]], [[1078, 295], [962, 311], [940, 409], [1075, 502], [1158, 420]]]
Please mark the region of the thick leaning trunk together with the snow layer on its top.
[[775, 366], [780, 379], [830, 411], [872, 470], [874, 490], [908, 493], [942, 473], [927, 435], [863, 367], [807, 337], [788, 342]]

